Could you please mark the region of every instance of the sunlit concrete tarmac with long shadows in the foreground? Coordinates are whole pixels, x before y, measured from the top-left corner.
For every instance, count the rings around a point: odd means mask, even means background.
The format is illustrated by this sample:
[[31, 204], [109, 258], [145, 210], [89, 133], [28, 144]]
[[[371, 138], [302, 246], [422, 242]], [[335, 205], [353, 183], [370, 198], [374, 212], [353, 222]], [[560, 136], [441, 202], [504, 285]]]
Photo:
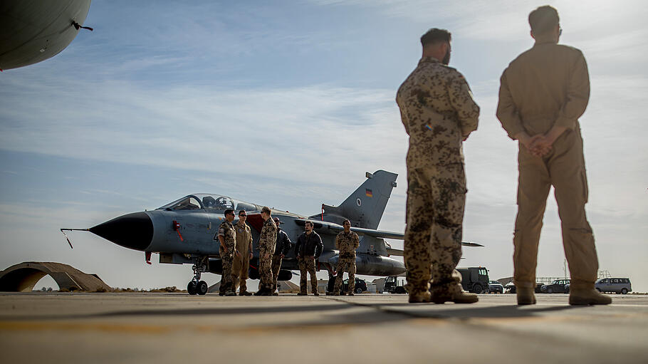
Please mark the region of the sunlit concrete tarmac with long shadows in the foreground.
[[0, 363], [648, 363], [648, 296], [0, 293]]

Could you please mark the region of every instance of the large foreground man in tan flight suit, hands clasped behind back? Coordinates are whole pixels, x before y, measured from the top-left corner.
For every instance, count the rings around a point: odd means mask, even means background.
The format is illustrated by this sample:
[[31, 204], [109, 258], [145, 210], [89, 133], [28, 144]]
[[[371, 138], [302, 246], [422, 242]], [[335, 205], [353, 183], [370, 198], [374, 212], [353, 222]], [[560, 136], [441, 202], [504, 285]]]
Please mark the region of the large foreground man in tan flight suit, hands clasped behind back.
[[582, 52], [558, 44], [560, 19], [551, 6], [529, 14], [533, 48], [501, 77], [497, 117], [518, 140], [518, 216], [513, 234], [513, 279], [519, 305], [535, 303], [538, 241], [553, 185], [569, 263], [572, 305], [608, 304], [594, 288], [598, 258], [585, 216], [587, 177], [578, 118], [590, 98], [590, 76]]

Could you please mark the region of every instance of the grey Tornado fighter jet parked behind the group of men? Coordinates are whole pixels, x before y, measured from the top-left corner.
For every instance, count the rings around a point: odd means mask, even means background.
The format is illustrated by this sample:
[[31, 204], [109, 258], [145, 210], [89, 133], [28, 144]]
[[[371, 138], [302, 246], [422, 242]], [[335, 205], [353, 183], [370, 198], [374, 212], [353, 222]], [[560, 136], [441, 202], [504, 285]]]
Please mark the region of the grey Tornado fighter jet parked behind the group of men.
[[[356, 251], [356, 274], [396, 276], [405, 271], [402, 261], [391, 257], [402, 256], [402, 250], [392, 249], [385, 241], [402, 240], [404, 234], [377, 230], [392, 189], [396, 187], [397, 175], [379, 170], [373, 174], [367, 172], [365, 177], [367, 180], [339, 206], [322, 204], [320, 214], [306, 216], [272, 209], [272, 216], [281, 220], [281, 229], [288, 234], [293, 244], [304, 232], [305, 222], [313, 222], [314, 231], [321, 236], [324, 244], [323, 253], [316, 262], [318, 271], [326, 269], [333, 276], [339, 258], [338, 250], [335, 249], [335, 236], [343, 231], [342, 223], [345, 219], [350, 220], [351, 230], [360, 235], [360, 247]], [[187, 285], [187, 291], [190, 294], [205, 294], [207, 283], [200, 280], [201, 274], [221, 274], [222, 271], [220, 244], [214, 236], [225, 219], [226, 209], [247, 212], [254, 252], [250, 260], [249, 277], [258, 279], [256, 244], [263, 226], [261, 207], [263, 206], [219, 194], [189, 194], [155, 210], [125, 214], [90, 229], [61, 231], [89, 231], [128, 249], [144, 251], [149, 264], [153, 253], [160, 255], [161, 264], [192, 264], [194, 276]], [[462, 244], [481, 246], [476, 243]], [[298, 269], [294, 249], [283, 259], [281, 267], [278, 280], [288, 281], [292, 278], [291, 271]]]

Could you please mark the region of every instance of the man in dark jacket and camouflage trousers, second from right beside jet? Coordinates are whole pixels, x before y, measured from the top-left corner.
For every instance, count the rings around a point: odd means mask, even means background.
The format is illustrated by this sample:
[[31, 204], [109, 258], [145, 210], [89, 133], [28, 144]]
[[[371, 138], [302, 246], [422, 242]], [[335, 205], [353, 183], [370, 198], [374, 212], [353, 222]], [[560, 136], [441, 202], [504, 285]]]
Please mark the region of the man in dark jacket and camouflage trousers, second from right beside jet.
[[319, 296], [318, 292], [318, 277], [315, 275], [315, 261], [320, 258], [320, 254], [324, 250], [322, 238], [318, 233], [313, 232], [313, 222], [307, 221], [304, 224], [305, 232], [297, 238], [295, 251], [297, 253], [297, 262], [301, 276], [299, 277], [299, 293], [298, 296], [306, 296], [306, 274], [310, 274], [310, 288], [313, 290], [315, 296]]

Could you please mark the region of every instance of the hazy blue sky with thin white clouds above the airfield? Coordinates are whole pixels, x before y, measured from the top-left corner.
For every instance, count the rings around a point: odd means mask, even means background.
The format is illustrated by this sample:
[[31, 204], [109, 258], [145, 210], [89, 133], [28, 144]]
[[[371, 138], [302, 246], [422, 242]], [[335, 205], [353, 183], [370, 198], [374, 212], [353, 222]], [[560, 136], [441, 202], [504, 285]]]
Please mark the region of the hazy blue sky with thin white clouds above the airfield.
[[[601, 269], [648, 291], [648, 10], [640, 1], [550, 1], [580, 48], [587, 213]], [[532, 46], [532, 1], [93, 1], [58, 56], [0, 73], [0, 268], [61, 261], [112, 286], [185, 286], [188, 266], [144, 264], [92, 234], [193, 192], [303, 214], [339, 204], [364, 172], [399, 174], [380, 229], [404, 229], [407, 135], [394, 95], [427, 28], [453, 33], [451, 66], [481, 106], [464, 151], [461, 266], [511, 276], [516, 143], [494, 116], [499, 76]], [[392, 241], [394, 246], [402, 246]], [[538, 276], [563, 274], [550, 196]], [[154, 259], [155, 260], [155, 259]], [[218, 281], [209, 276], [208, 283]]]

